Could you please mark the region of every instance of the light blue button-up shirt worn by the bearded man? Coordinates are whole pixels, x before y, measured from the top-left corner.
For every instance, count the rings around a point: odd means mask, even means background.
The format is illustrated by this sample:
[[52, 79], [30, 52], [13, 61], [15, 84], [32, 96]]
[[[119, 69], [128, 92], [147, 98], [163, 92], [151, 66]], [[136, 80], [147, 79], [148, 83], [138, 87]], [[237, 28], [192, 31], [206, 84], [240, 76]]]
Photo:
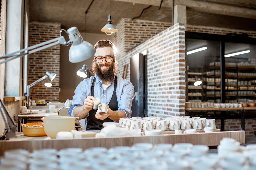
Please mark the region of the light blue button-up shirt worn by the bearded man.
[[[88, 79], [84, 79], [75, 90], [75, 95], [73, 96], [73, 103], [68, 113], [70, 116], [74, 117], [73, 109], [76, 106], [82, 106], [84, 99], [88, 96], [91, 96], [91, 84], [93, 79], [95, 78], [94, 84], [94, 97], [98, 97], [101, 100], [101, 103], [109, 104], [111, 97], [114, 91], [114, 79], [110, 83], [110, 85], [104, 90], [102, 85], [102, 80], [98, 77], [97, 74], [95, 76], [91, 76]], [[117, 86], [116, 86], [116, 98], [118, 101], [118, 110], [122, 110], [125, 112], [126, 117], [131, 117], [131, 107], [132, 100], [134, 98], [134, 87], [131, 82], [123, 79], [121, 76], [117, 75]], [[88, 116], [88, 114], [87, 114]], [[87, 117], [86, 116], [86, 117]]]

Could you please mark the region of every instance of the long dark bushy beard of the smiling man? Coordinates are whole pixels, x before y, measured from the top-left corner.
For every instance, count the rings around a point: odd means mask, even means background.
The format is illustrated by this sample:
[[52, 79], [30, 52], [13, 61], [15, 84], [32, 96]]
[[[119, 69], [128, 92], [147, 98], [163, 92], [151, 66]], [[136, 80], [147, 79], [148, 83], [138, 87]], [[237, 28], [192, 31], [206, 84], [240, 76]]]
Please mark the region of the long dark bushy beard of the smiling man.
[[[105, 65], [109, 66], [109, 69], [106, 71], [102, 71], [100, 66]], [[105, 64], [97, 64], [95, 60], [92, 61], [92, 72], [94, 74], [97, 74], [102, 81], [112, 81], [114, 79], [114, 76], [117, 72], [117, 65], [118, 61], [115, 60], [115, 62], [111, 63], [105, 63]]]

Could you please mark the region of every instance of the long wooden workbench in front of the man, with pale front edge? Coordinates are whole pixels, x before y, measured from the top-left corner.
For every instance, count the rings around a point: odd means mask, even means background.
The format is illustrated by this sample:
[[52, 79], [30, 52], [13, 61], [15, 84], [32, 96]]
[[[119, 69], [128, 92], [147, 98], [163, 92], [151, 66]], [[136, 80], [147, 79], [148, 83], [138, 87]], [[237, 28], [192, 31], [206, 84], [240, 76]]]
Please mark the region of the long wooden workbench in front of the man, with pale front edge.
[[226, 131], [214, 133], [196, 134], [166, 134], [158, 136], [137, 136], [137, 137], [108, 137], [108, 138], [83, 138], [83, 139], [50, 139], [43, 137], [26, 137], [23, 133], [16, 133], [17, 138], [0, 142], [0, 155], [9, 149], [26, 149], [30, 152], [44, 148], [55, 148], [60, 150], [68, 147], [91, 148], [114, 146], [132, 146], [134, 143], [192, 143], [193, 145], [217, 146], [223, 137], [233, 138], [240, 143], [245, 143], [245, 131]]

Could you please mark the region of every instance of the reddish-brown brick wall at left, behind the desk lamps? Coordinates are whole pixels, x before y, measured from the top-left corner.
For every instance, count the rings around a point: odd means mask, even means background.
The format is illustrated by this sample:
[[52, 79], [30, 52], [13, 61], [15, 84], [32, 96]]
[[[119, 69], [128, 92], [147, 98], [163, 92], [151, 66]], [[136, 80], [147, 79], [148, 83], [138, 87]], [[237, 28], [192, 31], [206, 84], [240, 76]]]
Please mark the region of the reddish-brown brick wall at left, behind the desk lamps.
[[[29, 46], [59, 37], [60, 29], [59, 23], [30, 22]], [[37, 86], [30, 88], [30, 97], [35, 95], [33, 99], [45, 99], [46, 102], [59, 101], [59, 70], [60, 45], [30, 54], [28, 56], [28, 84], [46, 75], [46, 71], [57, 73], [51, 82], [52, 87], [44, 86], [44, 81], [41, 81]]]

